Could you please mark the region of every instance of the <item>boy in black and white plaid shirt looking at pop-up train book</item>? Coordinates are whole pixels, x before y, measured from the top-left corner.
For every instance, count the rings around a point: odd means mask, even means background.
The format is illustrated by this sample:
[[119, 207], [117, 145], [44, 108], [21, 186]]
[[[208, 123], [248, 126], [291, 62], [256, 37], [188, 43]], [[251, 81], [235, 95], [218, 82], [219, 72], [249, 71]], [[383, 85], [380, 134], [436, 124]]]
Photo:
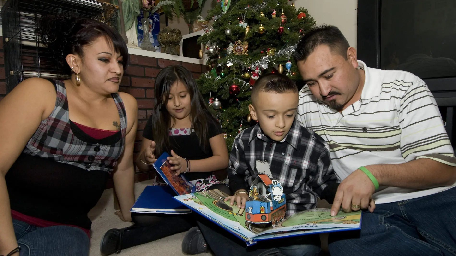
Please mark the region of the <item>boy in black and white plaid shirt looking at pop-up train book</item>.
[[[228, 174], [233, 196], [225, 200], [230, 200], [231, 205], [236, 201], [245, 208], [250, 184], [260, 172], [282, 184], [286, 215], [316, 208], [317, 197], [332, 203], [338, 181], [329, 147], [295, 120], [299, 100], [295, 82], [282, 74], [266, 74], [255, 83], [251, 98], [250, 115], [259, 123], [243, 130], [234, 140]], [[246, 248], [224, 230], [206, 221], [198, 224], [217, 256], [314, 256], [320, 252], [318, 235], [275, 239]]]

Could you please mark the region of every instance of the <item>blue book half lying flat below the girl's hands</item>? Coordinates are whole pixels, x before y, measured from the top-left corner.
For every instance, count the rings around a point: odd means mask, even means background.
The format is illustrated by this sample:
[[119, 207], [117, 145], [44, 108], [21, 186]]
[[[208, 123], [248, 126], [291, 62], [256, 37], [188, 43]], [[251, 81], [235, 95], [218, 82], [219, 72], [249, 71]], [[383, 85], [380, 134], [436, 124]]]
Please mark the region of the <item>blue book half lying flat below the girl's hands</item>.
[[183, 214], [192, 210], [174, 200], [176, 193], [169, 186], [147, 186], [141, 193], [131, 212]]

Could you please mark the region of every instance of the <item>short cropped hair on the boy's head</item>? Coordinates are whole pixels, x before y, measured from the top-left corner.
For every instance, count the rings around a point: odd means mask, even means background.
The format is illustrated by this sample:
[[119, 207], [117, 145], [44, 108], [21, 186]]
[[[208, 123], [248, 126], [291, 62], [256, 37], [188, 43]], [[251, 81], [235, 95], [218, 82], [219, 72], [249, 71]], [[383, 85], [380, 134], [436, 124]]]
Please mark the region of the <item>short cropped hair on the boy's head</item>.
[[259, 92], [298, 92], [296, 83], [289, 77], [280, 73], [268, 73], [258, 78], [252, 87], [251, 100], [252, 104], [256, 101]]

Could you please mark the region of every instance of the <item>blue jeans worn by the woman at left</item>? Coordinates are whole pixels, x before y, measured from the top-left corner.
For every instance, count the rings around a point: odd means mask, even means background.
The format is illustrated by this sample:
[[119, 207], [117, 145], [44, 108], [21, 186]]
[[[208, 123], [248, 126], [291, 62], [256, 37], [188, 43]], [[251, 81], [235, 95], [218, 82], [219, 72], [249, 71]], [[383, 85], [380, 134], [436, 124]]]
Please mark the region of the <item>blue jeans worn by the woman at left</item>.
[[21, 246], [20, 256], [88, 256], [90, 241], [80, 228], [37, 227], [13, 219], [14, 233]]

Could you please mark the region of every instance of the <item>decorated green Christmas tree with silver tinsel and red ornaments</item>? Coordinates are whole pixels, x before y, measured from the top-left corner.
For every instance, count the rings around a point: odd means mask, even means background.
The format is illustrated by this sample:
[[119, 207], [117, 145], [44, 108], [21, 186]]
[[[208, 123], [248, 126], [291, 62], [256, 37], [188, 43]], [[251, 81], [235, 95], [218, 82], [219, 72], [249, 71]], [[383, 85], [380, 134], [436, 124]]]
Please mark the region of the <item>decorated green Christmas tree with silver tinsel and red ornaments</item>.
[[[210, 72], [197, 80], [226, 133], [227, 145], [255, 124], [249, 114], [250, 89], [261, 74], [286, 73], [300, 79], [291, 54], [316, 21], [288, 0], [217, 0], [213, 21], [200, 37]], [[200, 52], [202, 57], [202, 52]]]

